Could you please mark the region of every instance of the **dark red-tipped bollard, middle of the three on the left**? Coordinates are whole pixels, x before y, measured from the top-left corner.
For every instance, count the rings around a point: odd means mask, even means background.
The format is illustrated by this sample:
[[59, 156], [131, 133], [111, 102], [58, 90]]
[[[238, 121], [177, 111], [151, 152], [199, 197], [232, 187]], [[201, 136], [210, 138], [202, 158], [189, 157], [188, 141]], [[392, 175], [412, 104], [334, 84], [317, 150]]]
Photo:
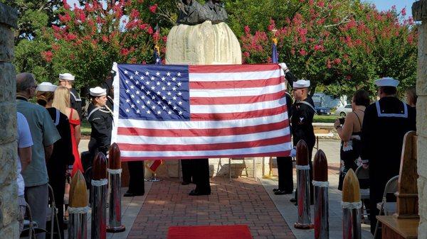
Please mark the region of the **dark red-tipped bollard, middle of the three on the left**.
[[92, 239], [105, 239], [107, 237], [107, 159], [99, 152], [93, 161], [92, 174]]

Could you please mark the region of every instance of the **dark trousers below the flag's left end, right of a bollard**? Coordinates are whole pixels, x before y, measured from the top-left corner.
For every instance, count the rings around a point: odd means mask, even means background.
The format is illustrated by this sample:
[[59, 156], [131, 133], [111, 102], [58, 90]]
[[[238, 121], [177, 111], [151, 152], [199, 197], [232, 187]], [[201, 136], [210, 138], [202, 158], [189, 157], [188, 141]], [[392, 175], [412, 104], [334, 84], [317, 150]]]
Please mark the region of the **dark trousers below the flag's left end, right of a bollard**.
[[144, 194], [144, 161], [127, 162], [127, 168], [129, 169], [129, 189], [127, 189], [127, 192]]

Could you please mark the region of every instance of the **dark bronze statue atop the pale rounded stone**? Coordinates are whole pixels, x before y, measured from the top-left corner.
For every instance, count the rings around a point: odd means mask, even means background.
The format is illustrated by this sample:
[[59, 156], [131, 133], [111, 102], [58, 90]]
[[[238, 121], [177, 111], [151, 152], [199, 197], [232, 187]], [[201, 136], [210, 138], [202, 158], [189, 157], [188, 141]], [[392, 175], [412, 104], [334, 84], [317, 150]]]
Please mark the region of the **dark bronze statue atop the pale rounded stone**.
[[226, 10], [220, 0], [209, 0], [203, 6], [196, 0], [179, 0], [179, 16], [176, 23], [196, 25], [211, 21], [212, 24], [228, 20]]

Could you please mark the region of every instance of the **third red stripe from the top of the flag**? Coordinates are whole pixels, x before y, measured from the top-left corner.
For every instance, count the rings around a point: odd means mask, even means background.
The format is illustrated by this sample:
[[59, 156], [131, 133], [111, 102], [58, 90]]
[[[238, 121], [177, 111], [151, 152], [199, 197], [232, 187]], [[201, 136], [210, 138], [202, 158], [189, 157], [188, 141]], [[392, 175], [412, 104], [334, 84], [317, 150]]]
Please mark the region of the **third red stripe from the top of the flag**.
[[218, 104], [253, 104], [256, 102], [275, 101], [285, 98], [285, 91], [259, 96], [230, 96], [230, 97], [191, 97], [191, 105], [218, 105]]

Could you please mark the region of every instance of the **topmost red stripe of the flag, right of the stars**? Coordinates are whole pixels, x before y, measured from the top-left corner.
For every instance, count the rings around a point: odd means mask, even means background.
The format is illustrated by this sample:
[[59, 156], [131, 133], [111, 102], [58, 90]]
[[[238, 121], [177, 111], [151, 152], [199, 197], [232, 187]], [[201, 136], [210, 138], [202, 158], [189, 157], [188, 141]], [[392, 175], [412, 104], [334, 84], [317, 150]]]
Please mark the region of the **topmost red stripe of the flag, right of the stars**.
[[233, 73], [280, 70], [278, 64], [258, 65], [189, 65], [189, 73]]

